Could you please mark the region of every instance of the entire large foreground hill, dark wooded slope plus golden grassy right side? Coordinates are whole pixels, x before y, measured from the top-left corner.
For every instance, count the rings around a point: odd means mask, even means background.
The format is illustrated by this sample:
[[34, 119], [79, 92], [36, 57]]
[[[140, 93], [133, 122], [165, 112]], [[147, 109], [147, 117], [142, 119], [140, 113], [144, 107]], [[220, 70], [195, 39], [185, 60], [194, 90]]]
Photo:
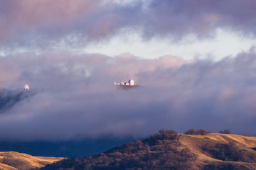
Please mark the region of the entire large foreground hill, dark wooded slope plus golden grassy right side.
[[149, 139], [86, 158], [63, 159], [46, 169], [256, 169], [256, 137], [179, 135], [160, 130]]

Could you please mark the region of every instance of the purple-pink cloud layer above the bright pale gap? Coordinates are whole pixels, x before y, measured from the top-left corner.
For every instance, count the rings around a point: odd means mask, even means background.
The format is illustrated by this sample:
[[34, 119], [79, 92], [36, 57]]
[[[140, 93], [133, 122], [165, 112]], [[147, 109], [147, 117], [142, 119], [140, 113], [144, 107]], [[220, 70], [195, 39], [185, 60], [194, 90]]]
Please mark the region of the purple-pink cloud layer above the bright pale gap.
[[[141, 30], [144, 38], [195, 33], [214, 35], [216, 28], [255, 35], [254, 0], [134, 1], [0, 1], [0, 43], [7, 47], [50, 48], [105, 40], [122, 28]], [[128, 30], [129, 30], [128, 29]]]

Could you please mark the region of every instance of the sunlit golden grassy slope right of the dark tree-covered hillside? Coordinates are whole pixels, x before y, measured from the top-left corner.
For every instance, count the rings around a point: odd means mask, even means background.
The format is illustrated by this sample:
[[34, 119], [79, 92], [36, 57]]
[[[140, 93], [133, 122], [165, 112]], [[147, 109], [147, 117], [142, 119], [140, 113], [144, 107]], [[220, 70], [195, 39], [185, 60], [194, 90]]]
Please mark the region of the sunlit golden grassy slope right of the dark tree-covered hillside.
[[210, 133], [181, 135], [179, 141], [198, 156], [201, 169], [256, 169], [256, 137]]

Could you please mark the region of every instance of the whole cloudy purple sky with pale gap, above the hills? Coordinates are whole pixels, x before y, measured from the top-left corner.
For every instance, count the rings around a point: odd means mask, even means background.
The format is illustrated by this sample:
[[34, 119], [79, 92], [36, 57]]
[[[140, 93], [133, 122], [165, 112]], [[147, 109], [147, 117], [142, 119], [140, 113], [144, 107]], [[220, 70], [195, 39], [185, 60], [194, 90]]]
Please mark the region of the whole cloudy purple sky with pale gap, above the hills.
[[[1, 140], [256, 135], [254, 0], [0, 0]], [[134, 79], [122, 91], [113, 82]], [[26, 93], [26, 92], [25, 92]]]

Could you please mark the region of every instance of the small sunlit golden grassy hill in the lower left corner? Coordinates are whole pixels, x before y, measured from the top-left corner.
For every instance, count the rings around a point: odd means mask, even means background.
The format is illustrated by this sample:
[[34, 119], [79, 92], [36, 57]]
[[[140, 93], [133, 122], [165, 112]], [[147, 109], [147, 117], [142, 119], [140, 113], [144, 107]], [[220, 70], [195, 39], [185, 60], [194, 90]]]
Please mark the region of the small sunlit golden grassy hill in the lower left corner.
[[62, 158], [55, 157], [33, 157], [29, 154], [18, 152], [0, 152], [0, 169], [4, 170], [28, 170], [36, 169], [58, 162]]

